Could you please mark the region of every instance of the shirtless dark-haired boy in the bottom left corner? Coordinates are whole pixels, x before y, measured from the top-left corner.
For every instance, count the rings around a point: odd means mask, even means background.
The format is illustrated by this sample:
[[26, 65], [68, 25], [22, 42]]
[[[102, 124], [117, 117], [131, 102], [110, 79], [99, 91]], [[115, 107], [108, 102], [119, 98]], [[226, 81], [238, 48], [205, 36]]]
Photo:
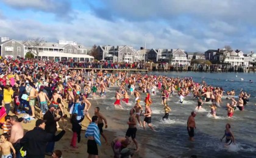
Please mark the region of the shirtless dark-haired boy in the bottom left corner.
[[[1, 148], [1, 151], [2, 151], [2, 157], [8, 157], [8, 158], [12, 158], [12, 157], [16, 157], [15, 154], [15, 149], [13, 148], [12, 146], [12, 143], [8, 142], [8, 139], [9, 136], [7, 133], [3, 133], [1, 134], [1, 137], [0, 137], [0, 148]], [[13, 155], [11, 154], [10, 152], [10, 149], [12, 149], [12, 152], [13, 152]]]

